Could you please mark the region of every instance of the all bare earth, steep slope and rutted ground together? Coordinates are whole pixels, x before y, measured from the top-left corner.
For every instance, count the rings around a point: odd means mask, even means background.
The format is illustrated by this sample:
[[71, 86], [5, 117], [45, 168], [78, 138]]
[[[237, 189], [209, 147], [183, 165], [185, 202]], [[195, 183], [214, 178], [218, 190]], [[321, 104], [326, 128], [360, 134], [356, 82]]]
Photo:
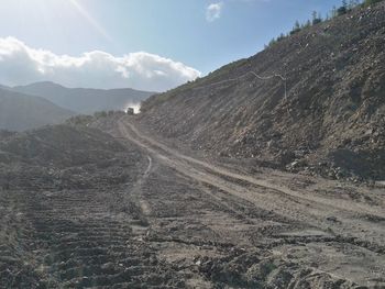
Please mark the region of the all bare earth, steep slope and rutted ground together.
[[385, 288], [384, 27], [383, 1], [140, 116], [0, 132], [0, 288]]

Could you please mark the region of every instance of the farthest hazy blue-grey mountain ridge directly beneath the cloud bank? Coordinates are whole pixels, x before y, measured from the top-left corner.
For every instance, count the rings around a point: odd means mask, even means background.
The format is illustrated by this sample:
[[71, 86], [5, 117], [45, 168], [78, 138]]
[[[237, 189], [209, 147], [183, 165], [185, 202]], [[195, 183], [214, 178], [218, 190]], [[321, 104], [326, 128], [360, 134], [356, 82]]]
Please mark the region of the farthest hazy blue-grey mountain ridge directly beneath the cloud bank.
[[59, 107], [85, 114], [103, 110], [122, 110], [153, 95], [130, 88], [109, 90], [66, 88], [54, 82], [36, 82], [14, 87], [13, 90], [45, 98]]

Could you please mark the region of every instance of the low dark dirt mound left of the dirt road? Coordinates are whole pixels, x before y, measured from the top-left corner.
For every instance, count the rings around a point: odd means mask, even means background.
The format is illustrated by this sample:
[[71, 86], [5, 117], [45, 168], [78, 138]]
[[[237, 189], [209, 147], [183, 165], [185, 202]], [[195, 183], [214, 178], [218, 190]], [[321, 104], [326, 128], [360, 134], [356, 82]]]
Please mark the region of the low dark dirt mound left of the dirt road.
[[[0, 134], [0, 188], [92, 189], [135, 177], [143, 156], [86, 126], [54, 125]], [[131, 174], [130, 174], [131, 171]]]

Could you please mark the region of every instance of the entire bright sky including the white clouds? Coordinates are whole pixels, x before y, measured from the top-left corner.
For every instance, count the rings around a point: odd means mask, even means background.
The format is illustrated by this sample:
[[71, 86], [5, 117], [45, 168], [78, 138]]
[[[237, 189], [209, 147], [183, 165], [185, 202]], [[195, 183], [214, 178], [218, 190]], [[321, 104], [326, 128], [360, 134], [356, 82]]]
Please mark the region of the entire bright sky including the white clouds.
[[0, 84], [164, 91], [340, 0], [0, 0]]

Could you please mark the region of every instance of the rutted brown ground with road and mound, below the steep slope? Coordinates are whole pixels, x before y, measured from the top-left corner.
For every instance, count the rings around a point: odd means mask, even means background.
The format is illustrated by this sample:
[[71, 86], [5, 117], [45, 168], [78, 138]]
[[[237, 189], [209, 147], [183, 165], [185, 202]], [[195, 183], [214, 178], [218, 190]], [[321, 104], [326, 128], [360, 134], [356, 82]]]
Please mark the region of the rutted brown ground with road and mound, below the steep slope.
[[0, 152], [0, 288], [385, 288], [384, 188], [223, 163], [120, 113]]

